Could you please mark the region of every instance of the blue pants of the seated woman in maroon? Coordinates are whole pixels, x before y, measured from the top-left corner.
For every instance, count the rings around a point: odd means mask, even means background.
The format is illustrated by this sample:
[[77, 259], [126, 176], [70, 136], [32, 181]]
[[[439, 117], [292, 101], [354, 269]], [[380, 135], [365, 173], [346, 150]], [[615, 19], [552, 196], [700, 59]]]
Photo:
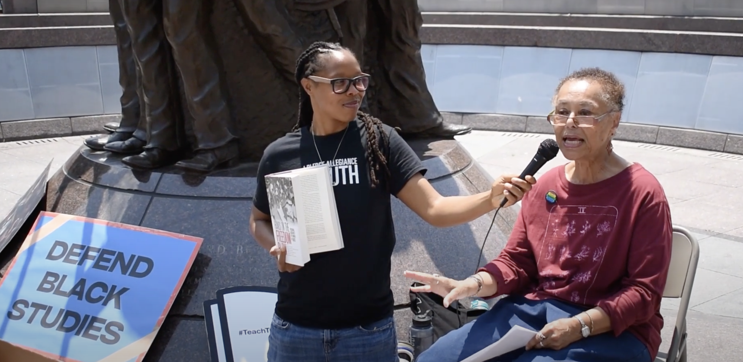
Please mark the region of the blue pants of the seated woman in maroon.
[[[554, 320], [583, 312], [559, 300], [528, 300], [511, 295], [473, 322], [447, 333], [421, 353], [416, 362], [458, 362], [495, 343], [512, 326], [539, 331]], [[489, 361], [497, 362], [652, 362], [647, 347], [630, 332], [611, 332], [577, 340], [564, 349], [516, 349]]]

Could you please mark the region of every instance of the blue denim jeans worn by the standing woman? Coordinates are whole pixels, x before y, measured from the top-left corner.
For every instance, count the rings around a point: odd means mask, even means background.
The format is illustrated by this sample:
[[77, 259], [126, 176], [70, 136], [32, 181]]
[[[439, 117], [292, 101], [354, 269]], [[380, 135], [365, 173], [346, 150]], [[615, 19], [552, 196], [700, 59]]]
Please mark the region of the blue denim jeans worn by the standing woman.
[[398, 362], [395, 320], [387, 317], [365, 326], [314, 329], [273, 315], [268, 335], [268, 362]]

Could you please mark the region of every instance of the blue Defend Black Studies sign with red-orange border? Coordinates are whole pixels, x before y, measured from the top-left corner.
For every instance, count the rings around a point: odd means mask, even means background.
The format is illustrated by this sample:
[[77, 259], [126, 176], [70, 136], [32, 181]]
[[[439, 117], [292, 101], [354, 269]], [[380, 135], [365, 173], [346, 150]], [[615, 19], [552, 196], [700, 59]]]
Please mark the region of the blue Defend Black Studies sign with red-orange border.
[[42, 212], [0, 280], [0, 339], [62, 361], [141, 361], [201, 242]]

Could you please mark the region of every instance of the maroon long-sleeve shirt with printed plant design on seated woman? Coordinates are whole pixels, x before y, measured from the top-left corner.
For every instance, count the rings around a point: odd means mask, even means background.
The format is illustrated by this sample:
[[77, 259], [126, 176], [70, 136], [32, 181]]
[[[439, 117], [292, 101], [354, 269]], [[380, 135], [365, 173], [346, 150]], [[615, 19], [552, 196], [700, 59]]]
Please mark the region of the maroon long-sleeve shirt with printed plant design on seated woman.
[[[557, 194], [554, 202], [549, 191]], [[521, 294], [601, 307], [614, 335], [629, 330], [655, 360], [671, 244], [663, 188], [640, 164], [589, 185], [568, 182], [561, 165], [526, 194], [507, 245], [481, 270], [498, 283], [490, 297]]]

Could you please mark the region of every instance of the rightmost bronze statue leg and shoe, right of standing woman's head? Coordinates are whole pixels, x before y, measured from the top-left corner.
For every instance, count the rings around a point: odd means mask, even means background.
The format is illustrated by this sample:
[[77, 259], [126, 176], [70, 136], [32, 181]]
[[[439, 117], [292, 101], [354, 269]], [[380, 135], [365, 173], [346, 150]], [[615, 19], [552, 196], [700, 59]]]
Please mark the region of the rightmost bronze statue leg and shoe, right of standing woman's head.
[[421, 59], [421, 38], [418, 35], [423, 17], [417, 0], [371, 0], [375, 2], [379, 24], [385, 24], [380, 36], [377, 62], [389, 82], [377, 94], [380, 119], [401, 134], [416, 136], [455, 136], [472, 128], [444, 122], [431, 92]]

